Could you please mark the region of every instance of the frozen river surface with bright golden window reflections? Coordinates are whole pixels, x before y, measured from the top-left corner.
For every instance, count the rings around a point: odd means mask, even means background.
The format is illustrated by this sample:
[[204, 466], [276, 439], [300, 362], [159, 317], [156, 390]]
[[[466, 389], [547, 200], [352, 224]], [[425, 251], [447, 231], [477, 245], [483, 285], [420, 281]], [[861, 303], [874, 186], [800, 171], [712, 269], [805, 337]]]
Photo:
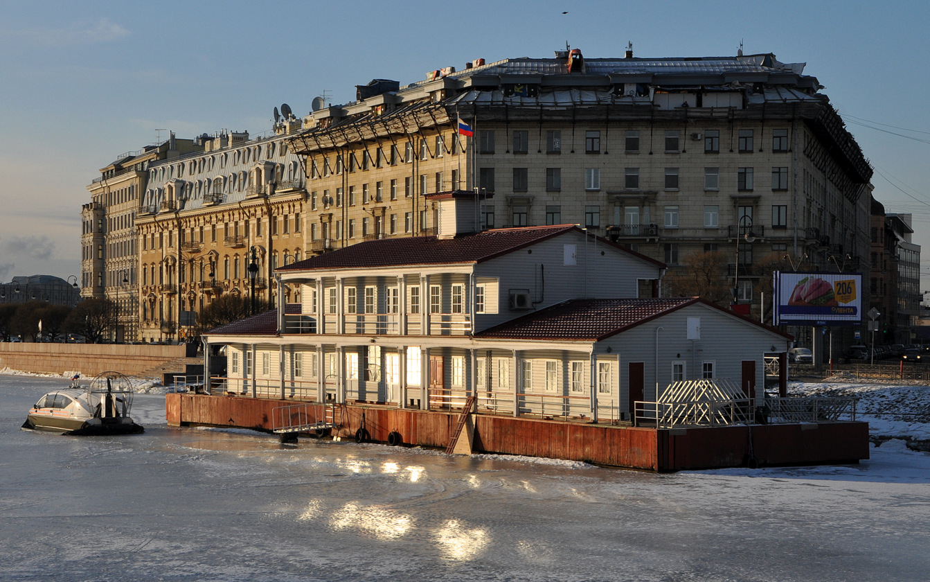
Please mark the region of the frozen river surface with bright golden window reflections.
[[0, 375], [0, 580], [926, 580], [930, 457], [656, 475], [171, 428], [20, 430]]

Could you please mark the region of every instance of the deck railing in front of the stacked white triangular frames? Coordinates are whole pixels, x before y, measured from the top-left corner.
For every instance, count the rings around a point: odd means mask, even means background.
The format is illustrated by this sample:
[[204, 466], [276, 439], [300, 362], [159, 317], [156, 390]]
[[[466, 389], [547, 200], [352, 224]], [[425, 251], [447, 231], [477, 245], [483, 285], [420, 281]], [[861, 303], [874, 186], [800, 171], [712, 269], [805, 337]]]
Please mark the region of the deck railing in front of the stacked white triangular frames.
[[754, 420], [751, 399], [635, 401], [635, 426], [673, 428], [680, 426], [749, 425]]

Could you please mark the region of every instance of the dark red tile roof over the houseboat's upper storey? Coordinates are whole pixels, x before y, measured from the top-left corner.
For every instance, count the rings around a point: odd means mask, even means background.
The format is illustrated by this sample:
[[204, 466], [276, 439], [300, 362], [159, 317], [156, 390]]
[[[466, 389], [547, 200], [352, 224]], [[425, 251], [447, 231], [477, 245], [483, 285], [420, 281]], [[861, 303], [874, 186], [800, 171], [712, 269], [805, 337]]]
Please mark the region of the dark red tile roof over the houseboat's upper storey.
[[[377, 268], [408, 264], [481, 263], [502, 254], [522, 249], [550, 237], [581, 229], [574, 224], [527, 226], [485, 230], [456, 238], [403, 237], [360, 242], [344, 249], [327, 252], [298, 263], [279, 267], [277, 271], [310, 271], [351, 268]], [[604, 244], [617, 247], [609, 241]], [[659, 267], [643, 255], [617, 247]]]

